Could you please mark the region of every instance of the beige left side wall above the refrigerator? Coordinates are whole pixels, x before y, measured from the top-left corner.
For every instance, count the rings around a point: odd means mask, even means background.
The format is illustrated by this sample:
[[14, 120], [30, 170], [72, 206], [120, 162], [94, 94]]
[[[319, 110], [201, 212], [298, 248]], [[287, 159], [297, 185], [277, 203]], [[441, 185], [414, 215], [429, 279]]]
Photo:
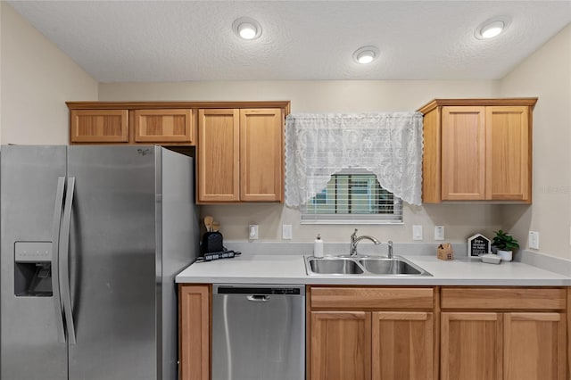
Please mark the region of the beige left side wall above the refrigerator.
[[67, 100], [97, 100], [97, 82], [0, 2], [2, 144], [67, 144]]

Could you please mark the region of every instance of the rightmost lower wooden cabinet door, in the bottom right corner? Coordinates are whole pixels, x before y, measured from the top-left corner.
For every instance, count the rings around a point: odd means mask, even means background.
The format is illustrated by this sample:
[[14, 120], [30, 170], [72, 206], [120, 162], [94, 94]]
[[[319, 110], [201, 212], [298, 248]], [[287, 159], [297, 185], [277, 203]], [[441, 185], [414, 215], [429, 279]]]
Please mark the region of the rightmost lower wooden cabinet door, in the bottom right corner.
[[504, 380], [566, 378], [565, 315], [504, 315]]

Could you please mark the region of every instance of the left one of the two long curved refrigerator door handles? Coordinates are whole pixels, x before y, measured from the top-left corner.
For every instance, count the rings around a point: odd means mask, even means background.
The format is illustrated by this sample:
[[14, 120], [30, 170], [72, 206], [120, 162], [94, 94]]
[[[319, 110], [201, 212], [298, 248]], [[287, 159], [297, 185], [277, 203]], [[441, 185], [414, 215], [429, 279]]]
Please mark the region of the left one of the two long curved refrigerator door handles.
[[63, 191], [65, 189], [65, 177], [57, 178], [57, 190], [55, 192], [54, 222], [52, 224], [52, 289], [55, 305], [55, 326], [57, 328], [57, 340], [65, 343], [63, 331], [62, 297], [60, 294], [59, 276], [59, 249], [60, 249], [60, 224], [62, 223]]

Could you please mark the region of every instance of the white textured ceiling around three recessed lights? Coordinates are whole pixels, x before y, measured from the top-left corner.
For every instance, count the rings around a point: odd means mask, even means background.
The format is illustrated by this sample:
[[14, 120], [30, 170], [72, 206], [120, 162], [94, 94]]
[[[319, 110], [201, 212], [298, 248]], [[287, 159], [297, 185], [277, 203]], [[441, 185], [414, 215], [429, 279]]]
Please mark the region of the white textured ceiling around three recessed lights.
[[[99, 82], [496, 79], [571, 22], [571, 0], [8, 2]], [[494, 16], [508, 29], [476, 39]], [[353, 62], [363, 45], [380, 58]]]

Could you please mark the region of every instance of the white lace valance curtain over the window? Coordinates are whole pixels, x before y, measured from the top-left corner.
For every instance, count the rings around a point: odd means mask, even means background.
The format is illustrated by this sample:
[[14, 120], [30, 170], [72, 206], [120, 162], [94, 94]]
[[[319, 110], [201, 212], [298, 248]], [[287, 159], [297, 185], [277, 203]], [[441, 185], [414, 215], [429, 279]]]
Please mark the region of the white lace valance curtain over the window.
[[299, 208], [342, 169], [373, 172], [404, 202], [421, 204], [422, 114], [290, 114], [285, 120], [285, 204]]

